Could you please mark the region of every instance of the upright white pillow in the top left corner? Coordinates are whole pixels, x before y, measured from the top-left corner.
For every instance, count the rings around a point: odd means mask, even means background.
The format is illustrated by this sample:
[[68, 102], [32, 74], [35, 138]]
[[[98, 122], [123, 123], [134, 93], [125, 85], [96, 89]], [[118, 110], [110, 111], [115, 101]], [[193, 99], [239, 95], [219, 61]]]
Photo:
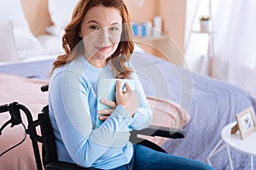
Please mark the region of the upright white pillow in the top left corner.
[[29, 29], [20, 0], [0, 0], [0, 20], [9, 20], [14, 27]]

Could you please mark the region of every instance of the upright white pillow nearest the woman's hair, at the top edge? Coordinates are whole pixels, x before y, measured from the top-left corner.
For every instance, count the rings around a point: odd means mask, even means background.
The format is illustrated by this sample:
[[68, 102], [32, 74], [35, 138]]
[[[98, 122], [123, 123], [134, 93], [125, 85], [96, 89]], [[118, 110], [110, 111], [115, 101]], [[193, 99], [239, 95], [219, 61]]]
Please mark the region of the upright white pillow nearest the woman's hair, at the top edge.
[[50, 20], [54, 26], [47, 29], [51, 34], [62, 34], [64, 28], [72, 18], [73, 8], [79, 0], [49, 0], [48, 9]]

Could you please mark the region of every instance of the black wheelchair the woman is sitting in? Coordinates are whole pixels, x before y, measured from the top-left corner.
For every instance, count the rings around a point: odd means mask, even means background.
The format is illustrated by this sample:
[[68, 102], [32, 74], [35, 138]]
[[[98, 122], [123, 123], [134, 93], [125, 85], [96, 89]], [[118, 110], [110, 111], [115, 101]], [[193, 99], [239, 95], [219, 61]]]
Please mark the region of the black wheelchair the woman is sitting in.
[[[48, 91], [48, 85], [41, 87], [41, 90], [43, 92]], [[32, 114], [26, 108], [26, 106], [21, 105], [17, 102], [13, 102], [8, 105], [0, 105], [0, 113], [7, 111], [9, 111], [11, 118], [8, 122], [5, 122], [0, 128], [0, 135], [3, 131], [3, 128], [6, 127], [8, 124], [11, 124], [11, 127], [14, 127], [15, 125], [19, 125], [20, 123], [22, 123], [20, 111], [25, 113], [27, 119], [26, 134], [28, 134], [30, 139], [32, 140], [32, 148], [38, 170], [97, 169], [94, 167], [79, 167], [74, 163], [57, 160], [55, 136], [53, 133], [53, 128], [51, 127], [51, 123], [49, 121], [48, 105], [45, 105], [43, 110], [38, 113], [38, 119], [35, 121], [32, 120]], [[37, 127], [39, 127], [40, 129], [40, 134], [38, 134], [37, 132]], [[146, 136], [160, 136], [170, 139], [183, 139], [185, 137], [185, 131], [183, 129], [176, 129], [170, 127], [158, 127], [151, 125], [143, 130], [131, 131], [131, 143], [143, 144], [151, 149], [162, 152], [166, 152], [166, 150], [163, 150], [159, 145], [154, 144], [149, 140], [137, 137], [138, 134]], [[39, 151], [38, 143], [42, 143], [42, 153], [40, 153]]]

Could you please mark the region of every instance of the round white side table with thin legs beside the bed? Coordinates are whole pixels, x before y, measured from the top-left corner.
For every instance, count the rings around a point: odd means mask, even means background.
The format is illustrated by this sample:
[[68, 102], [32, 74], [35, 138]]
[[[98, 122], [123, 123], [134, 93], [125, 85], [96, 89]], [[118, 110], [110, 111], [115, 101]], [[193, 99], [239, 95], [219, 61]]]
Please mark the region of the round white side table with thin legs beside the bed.
[[[252, 133], [250, 136], [247, 136], [246, 139], [241, 139], [239, 133], [231, 134], [231, 128], [236, 125], [236, 122], [232, 122], [226, 125], [221, 131], [221, 138], [218, 144], [214, 147], [212, 152], [207, 156], [208, 164], [211, 164], [210, 158], [218, 153], [218, 151], [227, 149], [230, 167], [233, 170], [233, 163], [230, 156], [230, 147], [235, 150], [240, 151], [241, 153], [247, 154], [251, 158], [251, 169], [253, 169], [253, 156], [256, 156], [256, 133]], [[224, 143], [220, 147], [220, 144]]]

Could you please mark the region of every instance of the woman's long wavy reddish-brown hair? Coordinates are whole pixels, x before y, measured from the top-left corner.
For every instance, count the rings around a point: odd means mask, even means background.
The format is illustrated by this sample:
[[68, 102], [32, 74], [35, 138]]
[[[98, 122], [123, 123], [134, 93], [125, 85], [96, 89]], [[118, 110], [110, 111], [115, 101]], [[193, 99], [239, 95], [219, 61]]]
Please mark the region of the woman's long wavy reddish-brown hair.
[[122, 17], [122, 34], [118, 48], [108, 58], [113, 74], [116, 78], [130, 78], [132, 69], [125, 65], [129, 61], [134, 50], [131, 32], [131, 18], [123, 0], [80, 0], [73, 10], [72, 20], [65, 28], [65, 33], [62, 37], [62, 48], [65, 54], [58, 56], [53, 63], [51, 73], [55, 68], [65, 65], [66, 63], [77, 59], [84, 54], [84, 44], [82, 37], [79, 37], [81, 23], [87, 11], [98, 5], [104, 7], [113, 7], [119, 10]]

